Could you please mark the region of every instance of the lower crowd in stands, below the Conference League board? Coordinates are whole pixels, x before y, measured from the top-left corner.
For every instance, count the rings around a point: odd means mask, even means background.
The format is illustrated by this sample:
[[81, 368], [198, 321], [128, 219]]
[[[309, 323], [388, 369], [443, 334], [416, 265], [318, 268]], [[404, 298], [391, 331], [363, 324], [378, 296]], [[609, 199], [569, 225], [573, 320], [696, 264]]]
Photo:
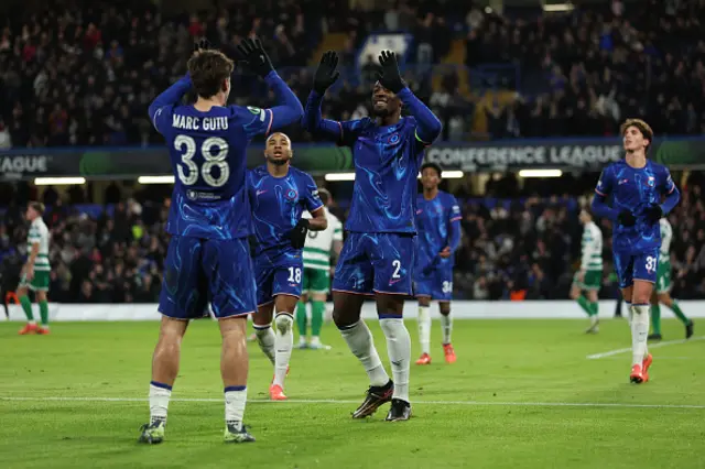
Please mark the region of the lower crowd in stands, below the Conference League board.
[[[692, 173], [676, 181], [682, 201], [669, 217], [674, 230], [673, 295], [705, 298], [705, 174]], [[464, 218], [456, 252], [455, 297], [567, 298], [573, 273], [579, 268], [582, 226], [577, 215], [579, 207], [589, 205], [590, 196], [540, 197], [530, 192], [502, 198], [507, 183], [490, 185], [484, 198], [459, 196]], [[86, 200], [79, 192], [74, 190], [72, 201]], [[117, 186], [108, 192], [106, 199], [116, 204], [90, 209], [65, 204], [55, 192], [44, 193], [43, 199], [52, 205], [44, 217], [52, 232], [52, 301], [153, 303], [159, 298], [169, 240], [164, 233], [169, 199], [138, 196], [122, 203]], [[345, 219], [345, 205], [334, 206], [332, 211]], [[25, 251], [28, 225], [21, 208], [21, 204], [11, 204], [0, 215], [0, 276], [7, 290], [17, 285]], [[616, 297], [610, 223], [597, 222], [605, 240], [600, 297]]]

